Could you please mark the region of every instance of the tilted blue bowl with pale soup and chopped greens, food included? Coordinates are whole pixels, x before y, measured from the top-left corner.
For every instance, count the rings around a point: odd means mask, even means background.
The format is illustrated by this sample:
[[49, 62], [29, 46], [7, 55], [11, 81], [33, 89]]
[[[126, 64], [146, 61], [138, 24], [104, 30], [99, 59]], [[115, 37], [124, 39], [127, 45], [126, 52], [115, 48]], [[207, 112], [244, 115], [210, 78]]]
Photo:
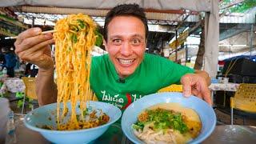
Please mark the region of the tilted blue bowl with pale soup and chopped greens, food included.
[[122, 114], [122, 130], [134, 143], [200, 143], [215, 125], [210, 105], [174, 92], [147, 95]]

